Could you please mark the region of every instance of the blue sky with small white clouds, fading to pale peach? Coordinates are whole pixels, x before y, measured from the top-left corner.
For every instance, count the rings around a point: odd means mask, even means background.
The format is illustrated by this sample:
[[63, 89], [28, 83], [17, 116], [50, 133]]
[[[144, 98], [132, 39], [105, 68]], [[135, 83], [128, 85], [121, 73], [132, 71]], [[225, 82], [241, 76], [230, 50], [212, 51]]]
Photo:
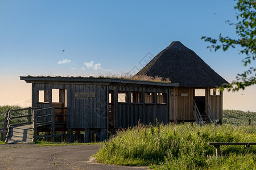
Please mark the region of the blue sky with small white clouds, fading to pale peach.
[[[217, 37], [222, 33], [235, 37], [235, 29], [225, 23], [225, 20], [236, 22], [234, 5], [236, 2], [232, 0], [1, 0], [3, 88], [27, 75], [121, 75], [134, 66], [141, 69], [139, 61], [148, 52], [156, 56], [172, 41], [180, 41], [192, 49], [231, 81], [245, 70], [238, 49], [210, 52], [209, 44], [201, 36]], [[28, 84], [20, 88], [30, 90]]]

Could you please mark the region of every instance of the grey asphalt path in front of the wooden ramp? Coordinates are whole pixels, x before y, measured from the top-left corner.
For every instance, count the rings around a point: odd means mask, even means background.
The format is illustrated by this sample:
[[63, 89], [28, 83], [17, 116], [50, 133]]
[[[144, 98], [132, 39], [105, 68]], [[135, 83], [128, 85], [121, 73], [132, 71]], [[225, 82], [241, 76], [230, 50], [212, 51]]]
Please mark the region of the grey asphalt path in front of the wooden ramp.
[[0, 169], [146, 169], [98, 164], [91, 157], [101, 145], [0, 145]]

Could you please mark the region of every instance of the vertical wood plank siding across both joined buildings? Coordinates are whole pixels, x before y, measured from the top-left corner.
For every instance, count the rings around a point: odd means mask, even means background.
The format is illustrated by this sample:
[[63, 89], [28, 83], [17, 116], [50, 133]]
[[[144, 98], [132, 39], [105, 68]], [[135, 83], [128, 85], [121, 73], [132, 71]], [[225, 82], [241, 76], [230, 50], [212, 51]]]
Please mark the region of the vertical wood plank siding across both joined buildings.
[[[52, 89], [67, 90], [67, 128], [108, 128], [109, 123], [109, 91], [113, 92], [113, 119], [114, 128], [128, 128], [135, 126], [138, 122], [142, 124], [156, 124], [158, 121], [167, 124], [176, 120], [195, 120], [193, 117], [193, 96], [192, 87], [175, 87], [171, 90], [168, 87], [111, 83], [32, 83], [32, 107], [51, 107]], [[38, 91], [45, 92], [44, 103], [38, 102]], [[126, 92], [125, 103], [118, 103], [118, 91]], [[172, 91], [170, 93], [170, 91]], [[95, 97], [75, 97], [75, 93], [93, 92]], [[142, 101], [131, 103], [131, 93], [140, 92]], [[152, 93], [153, 103], [147, 103], [145, 93]], [[168, 94], [166, 100], [161, 99], [157, 93]], [[181, 95], [183, 94], [183, 95]], [[206, 99], [216, 119], [222, 119], [222, 95], [210, 95], [209, 88], [206, 89]], [[166, 104], [158, 104], [159, 101], [168, 101]]]

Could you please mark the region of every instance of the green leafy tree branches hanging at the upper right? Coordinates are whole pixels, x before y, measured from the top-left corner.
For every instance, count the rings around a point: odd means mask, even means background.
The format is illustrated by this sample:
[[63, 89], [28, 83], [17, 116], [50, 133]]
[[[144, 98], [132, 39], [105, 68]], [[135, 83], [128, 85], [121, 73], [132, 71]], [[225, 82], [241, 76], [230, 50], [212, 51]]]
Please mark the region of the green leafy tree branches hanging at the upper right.
[[[204, 41], [210, 42], [212, 45], [207, 46], [207, 48], [214, 49], [215, 51], [222, 48], [222, 50], [226, 51], [230, 47], [232, 48], [241, 48], [239, 54], [246, 54], [246, 58], [242, 59], [243, 66], [248, 66], [251, 63], [255, 62], [255, 54], [256, 54], [256, 27], [255, 23], [255, 14], [256, 14], [256, 1], [251, 0], [240, 0], [237, 2], [237, 6], [234, 7], [237, 13], [238, 23], [230, 23], [229, 20], [226, 21], [229, 25], [235, 25], [236, 33], [238, 39], [232, 39], [230, 37], [222, 37], [221, 33], [218, 36], [218, 39], [212, 39], [211, 37], [202, 36], [201, 39]], [[217, 42], [220, 44], [217, 45]], [[245, 73], [238, 74], [237, 80], [232, 82], [231, 84], [224, 84], [228, 91], [238, 91], [241, 88], [245, 89], [247, 86], [252, 86], [255, 84], [255, 68], [250, 68], [245, 71]], [[222, 86], [222, 89], [225, 88]]]

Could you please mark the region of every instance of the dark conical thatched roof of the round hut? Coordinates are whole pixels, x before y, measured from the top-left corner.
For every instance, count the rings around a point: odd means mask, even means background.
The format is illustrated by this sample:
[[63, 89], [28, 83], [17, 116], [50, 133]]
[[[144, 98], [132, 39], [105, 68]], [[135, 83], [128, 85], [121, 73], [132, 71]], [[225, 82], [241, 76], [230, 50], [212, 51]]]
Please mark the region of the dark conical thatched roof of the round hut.
[[170, 78], [180, 87], [216, 87], [228, 83], [180, 41], [173, 41], [136, 75]]

